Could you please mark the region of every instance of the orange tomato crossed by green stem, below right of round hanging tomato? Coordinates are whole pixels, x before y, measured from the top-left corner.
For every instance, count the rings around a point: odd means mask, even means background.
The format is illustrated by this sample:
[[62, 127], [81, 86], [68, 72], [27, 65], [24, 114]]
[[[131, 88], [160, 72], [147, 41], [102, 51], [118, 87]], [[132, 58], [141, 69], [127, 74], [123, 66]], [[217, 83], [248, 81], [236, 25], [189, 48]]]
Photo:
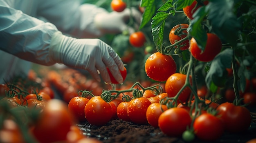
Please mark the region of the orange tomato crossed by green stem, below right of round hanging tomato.
[[[189, 78], [190, 81], [192, 81], [191, 77]], [[181, 73], [174, 73], [171, 75], [165, 83], [165, 91], [168, 94], [168, 97], [174, 97], [177, 95], [177, 93], [180, 91], [182, 86], [184, 86], [186, 81], [186, 75], [183, 75]], [[186, 102], [189, 99], [191, 90], [189, 87], [186, 87], [182, 92], [180, 93], [178, 97], [178, 103]]]

